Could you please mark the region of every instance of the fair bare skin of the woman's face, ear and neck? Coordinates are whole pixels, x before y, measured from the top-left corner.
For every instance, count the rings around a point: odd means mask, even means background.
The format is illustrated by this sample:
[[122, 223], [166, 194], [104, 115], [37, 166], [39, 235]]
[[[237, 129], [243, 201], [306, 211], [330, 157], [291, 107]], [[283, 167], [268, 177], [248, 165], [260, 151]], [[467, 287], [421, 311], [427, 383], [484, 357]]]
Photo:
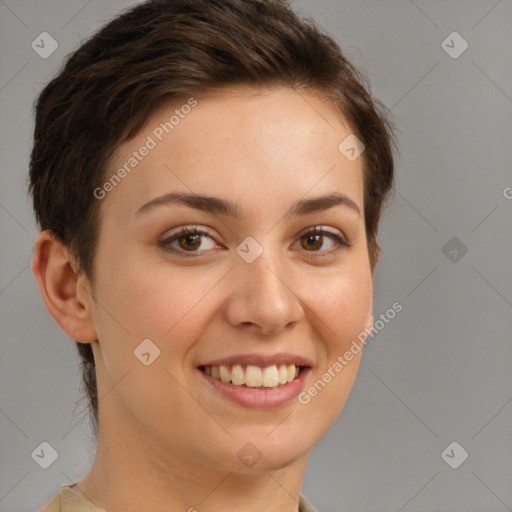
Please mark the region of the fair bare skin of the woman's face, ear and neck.
[[[43, 300], [72, 339], [92, 343], [97, 366], [98, 449], [74, 490], [109, 512], [297, 512], [309, 451], [342, 410], [362, 351], [308, 404], [271, 410], [228, 401], [196, 367], [289, 352], [313, 364], [307, 389], [371, 328], [363, 162], [338, 150], [351, 130], [311, 92], [236, 86], [195, 97], [190, 114], [101, 200], [94, 283], [77, 277], [49, 231], [37, 239], [32, 269]], [[106, 179], [186, 99], [162, 104], [118, 148]], [[183, 205], [135, 215], [171, 191], [230, 199], [243, 215]], [[333, 191], [361, 215], [335, 206], [284, 217], [294, 201]], [[187, 258], [194, 245], [183, 239], [172, 247], [184, 256], [159, 247], [186, 225], [208, 231], [200, 256]], [[308, 242], [302, 233], [314, 226], [351, 246], [338, 249], [329, 236]], [[263, 248], [250, 264], [235, 251], [247, 236]], [[160, 350], [149, 366], [133, 353], [147, 338]], [[262, 455], [252, 468], [237, 457], [247, 442]]]

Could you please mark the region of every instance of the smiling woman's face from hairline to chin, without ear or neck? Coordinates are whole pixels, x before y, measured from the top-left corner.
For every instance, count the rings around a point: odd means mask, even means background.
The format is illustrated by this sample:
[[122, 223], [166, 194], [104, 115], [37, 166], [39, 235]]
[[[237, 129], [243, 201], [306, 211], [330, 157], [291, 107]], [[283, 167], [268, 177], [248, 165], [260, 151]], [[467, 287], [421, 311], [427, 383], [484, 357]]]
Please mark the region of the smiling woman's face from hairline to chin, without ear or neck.
[[371, 326], [362, 158], [312, 93], [187, 100], [118, 148], [106, 180], [129, 172], [95, 199], [100, 430], [143, 438], [162, 465], [284, 467], [343, 408], [362, 352], [344, 354]]

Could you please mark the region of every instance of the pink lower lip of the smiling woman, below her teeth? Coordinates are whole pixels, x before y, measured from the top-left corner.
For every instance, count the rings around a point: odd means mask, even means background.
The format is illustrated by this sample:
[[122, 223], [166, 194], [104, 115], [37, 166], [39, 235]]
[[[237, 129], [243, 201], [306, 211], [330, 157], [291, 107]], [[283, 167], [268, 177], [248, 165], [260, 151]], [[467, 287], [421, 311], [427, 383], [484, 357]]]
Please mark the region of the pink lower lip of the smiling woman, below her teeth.
[[197, 369], [206, 382], [222, 396], [233, 402], [255, 409], [271, 409], [290, 402], [296, 398], [304, 387], [304, 381], [311, 368], [304, 368], [299, 376], [276, 388], [251, 388], [245, 386], [235, 386], [234, 384], [223, 382], [219, 379], [206, 375], [206, 373]]

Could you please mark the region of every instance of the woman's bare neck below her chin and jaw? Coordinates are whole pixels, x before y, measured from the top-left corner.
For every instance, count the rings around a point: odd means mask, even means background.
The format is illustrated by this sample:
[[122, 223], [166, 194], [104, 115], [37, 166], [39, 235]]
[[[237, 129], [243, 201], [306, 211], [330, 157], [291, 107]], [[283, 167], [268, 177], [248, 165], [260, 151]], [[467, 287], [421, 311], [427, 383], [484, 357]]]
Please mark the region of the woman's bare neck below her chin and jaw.
[[241, 473], [128, 432], [100, 431], [94, 464], [73, 488], [108, 512], [298, 511], [308, 453], [284, 468]]

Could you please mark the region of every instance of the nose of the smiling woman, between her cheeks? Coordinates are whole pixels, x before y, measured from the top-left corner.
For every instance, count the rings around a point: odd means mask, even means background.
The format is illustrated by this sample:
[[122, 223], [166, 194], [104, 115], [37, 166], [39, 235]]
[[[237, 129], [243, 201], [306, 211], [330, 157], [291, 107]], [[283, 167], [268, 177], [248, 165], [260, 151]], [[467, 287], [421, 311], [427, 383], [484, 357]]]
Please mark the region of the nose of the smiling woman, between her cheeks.
[[228, 323], [264, 336], [296, 324], [303, 315], [299, 283], [286, 267], [283, 256], [271, 256], [269, 251], [252, 263], [237, 261], [225, 305]]

